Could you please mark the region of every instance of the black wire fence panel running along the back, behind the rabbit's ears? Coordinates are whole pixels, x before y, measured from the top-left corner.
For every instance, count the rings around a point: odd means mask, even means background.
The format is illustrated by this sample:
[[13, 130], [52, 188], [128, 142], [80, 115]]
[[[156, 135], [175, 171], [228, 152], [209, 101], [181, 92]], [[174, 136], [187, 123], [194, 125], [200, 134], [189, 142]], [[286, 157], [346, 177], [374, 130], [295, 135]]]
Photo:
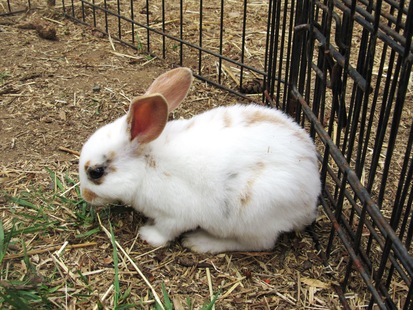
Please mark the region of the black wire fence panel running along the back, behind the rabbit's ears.
[[[254, 102], [263, 100], [268, 76], [268, 2], [62, 0], [61, 3], [56, 7], [62, 9], [67, 17], [92, 26], [148, 57], [192, 67], [198, 79]], [[269, 3], [269, 12], [271, 5], [272, 2]], [[151, 10], [157, 10], [156, 14]], [[231, 23], [224, 24], [228, 16], [233, 17]], [[248, 33], [247, 19], [259, 21], [260, 30]], [[259, 41], [260, 46], [260, 50], [253, 53], [249, 52], [246, 44], [251, 36], [254, 36], [254, 41]], [[257, 52], [259, 61], [255, 55]], [[222, 79], [228, 76], [234, 85], [223, 83]], [[255, 85], [251, 82], [253, 79]], [[274, 76], [274, 79], [278, 77]]]

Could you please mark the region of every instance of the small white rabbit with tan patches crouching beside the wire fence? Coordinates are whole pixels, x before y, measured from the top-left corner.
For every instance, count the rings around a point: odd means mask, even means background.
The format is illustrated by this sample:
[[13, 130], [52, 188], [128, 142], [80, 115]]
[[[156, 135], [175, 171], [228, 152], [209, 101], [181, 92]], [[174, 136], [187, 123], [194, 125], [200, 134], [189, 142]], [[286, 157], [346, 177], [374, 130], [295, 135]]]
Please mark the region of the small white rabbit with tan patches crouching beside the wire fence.
[[188, 68], [161, 74], [89, 138], [79, 159], [83, 198], [130, 204], [149, 218], [142, 240], [158, 247], [183, 234], [195, 253], [270, 250], [280, 233], [311, 224], [321, 188], [309, 134], [255, 104], [167, 122], [191, 83]]

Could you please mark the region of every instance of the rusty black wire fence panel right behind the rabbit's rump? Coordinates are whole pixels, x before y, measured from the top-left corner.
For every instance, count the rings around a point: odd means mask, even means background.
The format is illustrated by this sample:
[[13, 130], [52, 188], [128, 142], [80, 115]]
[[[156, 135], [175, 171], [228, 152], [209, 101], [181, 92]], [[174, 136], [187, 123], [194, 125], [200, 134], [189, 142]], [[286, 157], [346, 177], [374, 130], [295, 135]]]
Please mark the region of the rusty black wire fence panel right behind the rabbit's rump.
[[[297, 121], [309, 121], [322, 143], [321, 203], [333, 224], [330, 236], [318, 236], [320, 255], [334, 266], [338, 291], [363, 278], [368, 309], [411, 309], [413, 3], [315, 0], [293, 10], [288, 93]], [[335, 254], [343, 244], [347, 264]], [[393, 300], [398, 284], [402, 303]]]

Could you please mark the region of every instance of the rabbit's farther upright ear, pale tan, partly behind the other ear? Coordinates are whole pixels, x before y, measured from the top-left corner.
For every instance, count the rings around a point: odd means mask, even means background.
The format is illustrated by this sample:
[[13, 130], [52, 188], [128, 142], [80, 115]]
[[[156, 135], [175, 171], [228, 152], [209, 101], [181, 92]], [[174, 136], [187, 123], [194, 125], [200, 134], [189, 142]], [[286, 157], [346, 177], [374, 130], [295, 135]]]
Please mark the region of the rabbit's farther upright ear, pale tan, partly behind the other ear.
[[185, 67], [176, 68], [161, 74], [153, 81], [145, 95], [160, 93], [173, 111], [188, 94], [192, 83], [192, 71]]

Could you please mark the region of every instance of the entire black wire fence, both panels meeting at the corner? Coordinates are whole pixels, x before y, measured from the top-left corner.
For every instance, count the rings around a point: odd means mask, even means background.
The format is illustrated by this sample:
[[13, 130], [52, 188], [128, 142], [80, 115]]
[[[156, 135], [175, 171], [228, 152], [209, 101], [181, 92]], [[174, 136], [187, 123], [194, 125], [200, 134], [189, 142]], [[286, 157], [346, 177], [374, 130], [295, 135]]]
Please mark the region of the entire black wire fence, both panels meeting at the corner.
[[[367, 309], [407, 310], [413, 309], [412, 3], [62, 0], [55, 7], [148, 57], [196, 68], [197, 79], [277, 106], [309, 128], [319, 150], [320, 203], [332, 224], [329, 236], [320, 236], [317, 224], [311, 234], [325, 272], [340, 284], [343, 308], [350, 309], [349, 284], [361, 277]], [[24, 11], [7, 4], [5, 14]], [[243, 13], [228, 23], [233, 7]], [[343, 247], [344, 261], [337, 254]], [[404, 288], [404, 305], [394, 298], [396, 284]]]

